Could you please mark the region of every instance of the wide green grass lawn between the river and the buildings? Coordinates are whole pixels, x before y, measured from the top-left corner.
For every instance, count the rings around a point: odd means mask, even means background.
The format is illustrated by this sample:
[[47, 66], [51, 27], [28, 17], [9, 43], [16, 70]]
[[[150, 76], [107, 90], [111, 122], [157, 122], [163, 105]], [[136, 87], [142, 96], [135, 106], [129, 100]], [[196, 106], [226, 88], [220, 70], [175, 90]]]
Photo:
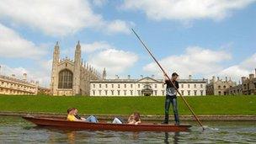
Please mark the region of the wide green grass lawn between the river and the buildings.
[[[197, 115], [256, 115], [256, 96], [185, 97]], [[191, 115], [178, 99], [180, 115]], [[76, 107], [81, 114], [163, 115], [164, 97], [63, 97], [0, 95], [0, 111], [66, 113]]]

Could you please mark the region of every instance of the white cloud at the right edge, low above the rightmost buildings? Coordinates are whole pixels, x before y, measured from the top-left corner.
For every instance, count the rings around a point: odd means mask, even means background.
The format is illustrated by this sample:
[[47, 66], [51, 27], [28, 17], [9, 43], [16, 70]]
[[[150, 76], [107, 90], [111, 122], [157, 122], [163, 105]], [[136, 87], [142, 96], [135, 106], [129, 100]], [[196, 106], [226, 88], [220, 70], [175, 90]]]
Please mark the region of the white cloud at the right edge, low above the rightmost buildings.
[[[241, 77], [248, 77], [248, 74], [254, 73], [254, 68], [256, 68], [256, 53], [253, 56], [248, 57], [246, 60], [227, 67], [219, 72], [221, 77], [232, 77], [235, 81], [241, 80]], [[255, 74], [255, 73], [254, 73]]]

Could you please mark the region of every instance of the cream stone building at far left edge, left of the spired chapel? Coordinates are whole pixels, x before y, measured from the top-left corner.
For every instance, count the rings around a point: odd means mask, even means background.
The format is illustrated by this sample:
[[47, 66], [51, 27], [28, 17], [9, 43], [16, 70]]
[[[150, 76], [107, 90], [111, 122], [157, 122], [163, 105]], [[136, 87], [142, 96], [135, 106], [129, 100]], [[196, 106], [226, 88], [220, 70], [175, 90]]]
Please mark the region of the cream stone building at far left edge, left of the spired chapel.
[[0, 94], [8, 95], [36, 95], [38, 93], [38, 82], [28, 82], [27, 74], [24, 73], [23, 79], [0, 75]]

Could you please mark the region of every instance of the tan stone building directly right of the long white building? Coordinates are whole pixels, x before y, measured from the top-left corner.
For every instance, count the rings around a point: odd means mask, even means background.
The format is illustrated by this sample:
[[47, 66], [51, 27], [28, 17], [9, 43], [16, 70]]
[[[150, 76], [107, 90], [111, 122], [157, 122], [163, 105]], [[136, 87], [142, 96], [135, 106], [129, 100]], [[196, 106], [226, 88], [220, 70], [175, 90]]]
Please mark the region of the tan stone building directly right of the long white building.
[[213, 76], [212, 79], [210, 80], [210, 83], [206, 85], [206, 94], [207, 95], [227, 95], [227, 89], [232, 88], [236, 86], [237, 83], [233, 82], [231, 78], [229, 80], [223, 81], [219, 77]]

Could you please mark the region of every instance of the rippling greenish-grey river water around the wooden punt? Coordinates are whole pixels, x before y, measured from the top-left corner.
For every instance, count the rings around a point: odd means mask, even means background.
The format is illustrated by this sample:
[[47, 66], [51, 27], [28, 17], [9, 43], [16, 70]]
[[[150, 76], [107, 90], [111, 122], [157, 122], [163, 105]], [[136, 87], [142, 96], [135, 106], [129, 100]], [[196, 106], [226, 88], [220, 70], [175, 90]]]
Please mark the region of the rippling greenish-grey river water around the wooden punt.
[[[188, 123], [188, 122], [186, 122]], [[189, 122], [191, 123], [191, 122]], [[256, 122], [204, 122], [189, 132], [63, 131], [0, 116], [0, 143], [256, 143]]]

